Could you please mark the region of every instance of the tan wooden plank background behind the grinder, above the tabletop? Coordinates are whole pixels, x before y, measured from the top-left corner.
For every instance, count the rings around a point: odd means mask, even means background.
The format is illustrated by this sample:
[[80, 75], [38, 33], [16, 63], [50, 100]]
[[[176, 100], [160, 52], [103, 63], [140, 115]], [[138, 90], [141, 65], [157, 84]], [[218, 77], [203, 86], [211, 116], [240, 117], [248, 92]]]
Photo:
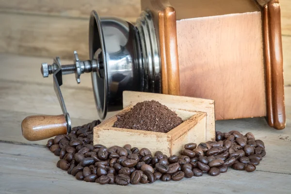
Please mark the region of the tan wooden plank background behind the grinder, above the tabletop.
[[[280, 0], [285, 85], [291, 85], [291, 0]], [[135, 22], [140, 0], [0, 0], [0, 52], [72, 59], [88, 57], [88, 18]]]

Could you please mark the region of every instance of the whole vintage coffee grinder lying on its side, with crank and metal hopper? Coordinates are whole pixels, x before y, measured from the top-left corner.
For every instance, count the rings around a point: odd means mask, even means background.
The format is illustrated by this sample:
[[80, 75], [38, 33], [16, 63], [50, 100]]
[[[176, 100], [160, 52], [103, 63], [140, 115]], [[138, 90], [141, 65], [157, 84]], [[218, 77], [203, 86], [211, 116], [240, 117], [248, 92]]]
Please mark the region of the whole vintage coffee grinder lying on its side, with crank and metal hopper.
[[63, 114], [22, 122], [31, 141], [71, 130], [62, 76], [91, 73], [97, 112], [122, 109], [122, 92], [140, 91], [215, 100], [215, 118], [266, 116], [285, 128], [280, 5], [278, 0], [141, 0], [133, 25], [116, 17], [89, 22], [90, 60], [42, 64], [53, 74]]

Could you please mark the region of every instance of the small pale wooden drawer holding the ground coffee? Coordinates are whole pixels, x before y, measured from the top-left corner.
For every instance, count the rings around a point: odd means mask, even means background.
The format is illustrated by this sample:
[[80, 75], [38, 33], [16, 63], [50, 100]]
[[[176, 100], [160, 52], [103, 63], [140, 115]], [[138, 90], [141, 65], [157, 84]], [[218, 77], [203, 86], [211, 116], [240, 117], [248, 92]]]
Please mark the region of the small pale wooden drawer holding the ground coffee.
[[[167, 133], [113, 128], [116, 115], [94, 128], [94, 145], [146, 147], [154, 154], [160, 150], [166, 155], [178, 154], [187, 143], [200, 143], [215, 139], [214, 101], [209, 99], [178, 97], [163, 94], [123, 92], [124, 109], [128, 112], [137, 102], [156, 100], [175, 111], [184, 121]], [[117, 114], [117, 115], [118, 115]]]

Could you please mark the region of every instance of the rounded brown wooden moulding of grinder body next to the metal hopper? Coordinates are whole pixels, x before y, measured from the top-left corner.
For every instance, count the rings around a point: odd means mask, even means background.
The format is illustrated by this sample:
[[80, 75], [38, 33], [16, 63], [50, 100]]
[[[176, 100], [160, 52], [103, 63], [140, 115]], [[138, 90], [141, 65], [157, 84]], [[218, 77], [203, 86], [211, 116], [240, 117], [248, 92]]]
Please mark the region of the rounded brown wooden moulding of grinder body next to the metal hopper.
[[168, 0], [142, 0], [142, 10], [153, 16], [159, 37], [162, 66], [162, 94], [179, 95], [179, 64], [177, 48], [176, 12]]

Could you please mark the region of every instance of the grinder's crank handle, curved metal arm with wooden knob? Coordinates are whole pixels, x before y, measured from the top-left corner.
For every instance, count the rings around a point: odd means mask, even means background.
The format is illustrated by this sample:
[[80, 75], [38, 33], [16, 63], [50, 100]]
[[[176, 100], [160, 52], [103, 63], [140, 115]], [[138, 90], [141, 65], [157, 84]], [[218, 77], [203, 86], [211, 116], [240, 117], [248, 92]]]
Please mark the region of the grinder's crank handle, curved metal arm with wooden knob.
[[26, 117], [21, 123], [21, 128], [23, 137], [29, 141], [43, 140], [71, 132], [71, 119], [66, 111], [65, 101], [60, 89], [63, 80], [62, 65], [59, 57], [54, 59], [54, 65], [56, 65], [56, 70], [53, 73], [54, 91], [59, 99], [63, 114]]

